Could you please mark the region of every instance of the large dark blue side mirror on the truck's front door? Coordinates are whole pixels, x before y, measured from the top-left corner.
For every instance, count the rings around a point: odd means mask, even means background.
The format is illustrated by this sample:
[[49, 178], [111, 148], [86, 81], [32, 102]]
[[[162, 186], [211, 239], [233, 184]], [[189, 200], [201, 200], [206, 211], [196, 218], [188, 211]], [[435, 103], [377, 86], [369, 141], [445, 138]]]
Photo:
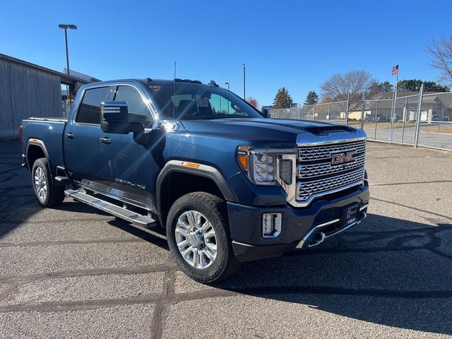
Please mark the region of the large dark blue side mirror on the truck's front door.
[[100, 104], [100, 126], [102, 132], [127, 134], [142, 133], [141, 122], [129, 122], [129, 110], [125, 101], [106, 101]]

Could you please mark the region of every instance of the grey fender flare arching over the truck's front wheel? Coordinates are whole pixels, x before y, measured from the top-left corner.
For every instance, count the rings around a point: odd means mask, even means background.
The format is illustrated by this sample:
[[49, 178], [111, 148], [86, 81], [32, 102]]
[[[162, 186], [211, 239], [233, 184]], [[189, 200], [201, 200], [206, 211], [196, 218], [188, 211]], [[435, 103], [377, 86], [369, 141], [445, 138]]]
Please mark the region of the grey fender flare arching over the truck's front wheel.
[[182, 160], [169, 160], [165, 164], [165, 166], [160, 171], [157, 177], [157, 183], [155, 186], [155, 196], [156, 196], [156, 205], [157, 205], [157, 213], [161, 213], [162, 210], [162, 199], [161, 199], [161, 191], [162, 184], [165, 181], [168, 174], [172, 172], [181, 172], [187, 174], [194, 174], [198, 177], [205, 177], [211, 179], [220, 189], [222, 195], [225, 197], [227, 201], [236, 202], [237, 198], [234, 195], [234, 192], [230, 188], [229, 184], [227, 184], [226, 179], [222, 176], [220, 171], [215, 167], [208, 165], [199, 165], [198, 167], [186, 167], [182, 165]]

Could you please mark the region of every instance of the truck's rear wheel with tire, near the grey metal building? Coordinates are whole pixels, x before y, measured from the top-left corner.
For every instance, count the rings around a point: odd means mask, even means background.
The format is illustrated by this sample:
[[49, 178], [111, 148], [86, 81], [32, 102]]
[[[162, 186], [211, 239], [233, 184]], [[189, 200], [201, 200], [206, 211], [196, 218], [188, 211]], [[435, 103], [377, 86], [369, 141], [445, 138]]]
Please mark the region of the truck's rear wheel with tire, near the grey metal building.
[[32, 188], [44, 207], [57, 206], [64, 200], [64, 186], [54, 186], [45, 157], [37, 159], [31, 169]]

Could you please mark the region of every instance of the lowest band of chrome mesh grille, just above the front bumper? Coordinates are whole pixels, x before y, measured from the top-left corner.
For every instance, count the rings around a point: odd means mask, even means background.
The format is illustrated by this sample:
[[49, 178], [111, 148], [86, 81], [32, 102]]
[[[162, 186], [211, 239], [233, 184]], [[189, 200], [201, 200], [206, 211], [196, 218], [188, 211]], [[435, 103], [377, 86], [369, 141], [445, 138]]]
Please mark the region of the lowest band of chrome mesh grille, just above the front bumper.
[[297, 197], [299, 201], [307, 201], [313, 194], [335, 189], [359, 182], [364, 178], [364, 168], [346, 174], [336, 175], [310, 182], [297, 182]]

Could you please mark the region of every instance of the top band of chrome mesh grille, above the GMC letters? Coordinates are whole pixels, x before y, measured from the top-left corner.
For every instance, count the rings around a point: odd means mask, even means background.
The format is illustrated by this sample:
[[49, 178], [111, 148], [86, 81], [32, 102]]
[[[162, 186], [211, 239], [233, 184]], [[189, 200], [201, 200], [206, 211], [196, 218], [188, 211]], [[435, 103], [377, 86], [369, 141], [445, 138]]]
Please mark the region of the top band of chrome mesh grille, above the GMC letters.
[[356, 153], [364, 153], [366, 151], [366, 141], [357, 141], [355, 143], [340, 143], [316, 147], [302, 147], [298, 150], [298, 160], [301, 162], [313, 160], [329, 160], [331, 159], [331, 155], [335, 153], [350, 152], [351, 150], [355, 150]]

